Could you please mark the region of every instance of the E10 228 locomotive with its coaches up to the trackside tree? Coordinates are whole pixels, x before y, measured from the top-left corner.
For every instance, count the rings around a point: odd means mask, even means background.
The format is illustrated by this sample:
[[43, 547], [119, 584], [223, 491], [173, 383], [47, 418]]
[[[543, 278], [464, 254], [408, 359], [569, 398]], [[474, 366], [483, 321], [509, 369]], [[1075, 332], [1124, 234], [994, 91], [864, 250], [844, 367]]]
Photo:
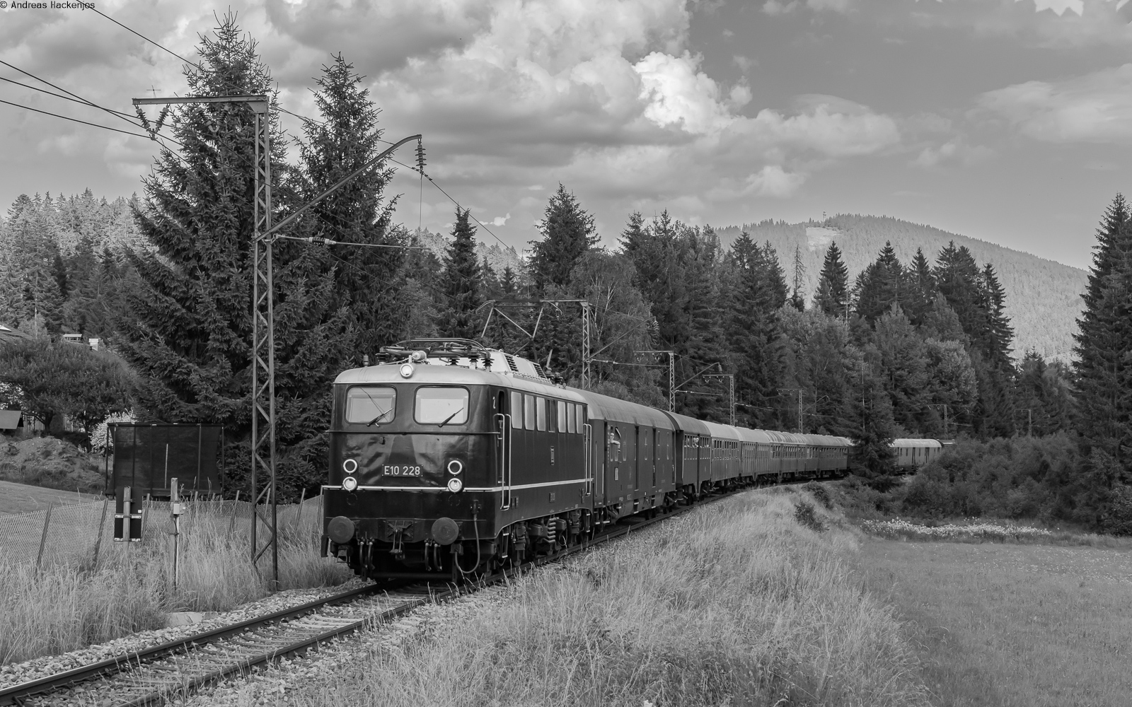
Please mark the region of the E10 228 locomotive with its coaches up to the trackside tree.
[[627, 516], [848, 468], [850, 441], [720, 425], [555, 383], [468, 339], [413, 339], [334, 382], [323, 553], [460, 580]]

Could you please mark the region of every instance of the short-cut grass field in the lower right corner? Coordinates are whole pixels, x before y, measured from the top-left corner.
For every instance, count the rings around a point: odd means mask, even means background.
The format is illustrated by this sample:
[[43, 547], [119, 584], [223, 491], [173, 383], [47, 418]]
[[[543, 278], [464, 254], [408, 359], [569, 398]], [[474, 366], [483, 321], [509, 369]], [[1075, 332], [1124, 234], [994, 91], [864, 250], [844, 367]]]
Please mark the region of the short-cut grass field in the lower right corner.
[[1132, 705], [1132, 552], [869, 538], [938, 707]]

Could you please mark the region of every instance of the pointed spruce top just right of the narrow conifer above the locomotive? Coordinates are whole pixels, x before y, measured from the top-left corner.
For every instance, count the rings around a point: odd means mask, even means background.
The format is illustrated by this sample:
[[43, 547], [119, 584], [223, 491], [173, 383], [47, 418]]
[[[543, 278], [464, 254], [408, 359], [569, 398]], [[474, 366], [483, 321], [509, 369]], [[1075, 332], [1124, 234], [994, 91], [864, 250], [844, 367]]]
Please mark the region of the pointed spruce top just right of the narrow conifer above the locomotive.
[[531, 241], [530, 270], [534, 287], [543, 292], [550, 285], [565, 287], [578, 259], [598, 244], [593, 216], [576, 197], [558, 184], [550, 197], [542, 221], [541, 241]]

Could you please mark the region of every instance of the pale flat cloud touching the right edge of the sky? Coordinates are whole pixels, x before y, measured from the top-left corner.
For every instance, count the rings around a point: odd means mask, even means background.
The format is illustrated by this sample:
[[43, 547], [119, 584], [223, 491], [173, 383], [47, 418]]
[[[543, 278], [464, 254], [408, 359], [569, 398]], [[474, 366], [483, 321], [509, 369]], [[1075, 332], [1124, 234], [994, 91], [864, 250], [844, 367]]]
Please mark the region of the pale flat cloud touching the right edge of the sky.
[[1132, 145], [1132, 63], [1066, 81], [1014, 84], [979, 103], [1035, 140]]

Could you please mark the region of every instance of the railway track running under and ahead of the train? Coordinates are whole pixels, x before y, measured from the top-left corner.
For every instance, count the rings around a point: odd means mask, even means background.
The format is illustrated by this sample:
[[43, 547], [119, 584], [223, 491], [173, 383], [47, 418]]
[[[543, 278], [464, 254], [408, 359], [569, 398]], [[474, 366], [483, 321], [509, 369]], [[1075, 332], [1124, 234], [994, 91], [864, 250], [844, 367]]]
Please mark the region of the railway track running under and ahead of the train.
[[84, 697], [94, 698], [100, 707], [161, 705], [172, 697], [189, 695], [225, 678], [248, 673], [258, 665], [301, 655], [319, 644], [359, 629], [393, 621], [426, 603], [449, 601], [747, 489], [721, 493], [695, 506], [680, 507], [653, 518], [631, 516], [582, 545], [483, 577], [474, 585], [368, 585], [16, 684], [0, 690], [0, 706], [32, 707], [59, 701], [85, 701]]

